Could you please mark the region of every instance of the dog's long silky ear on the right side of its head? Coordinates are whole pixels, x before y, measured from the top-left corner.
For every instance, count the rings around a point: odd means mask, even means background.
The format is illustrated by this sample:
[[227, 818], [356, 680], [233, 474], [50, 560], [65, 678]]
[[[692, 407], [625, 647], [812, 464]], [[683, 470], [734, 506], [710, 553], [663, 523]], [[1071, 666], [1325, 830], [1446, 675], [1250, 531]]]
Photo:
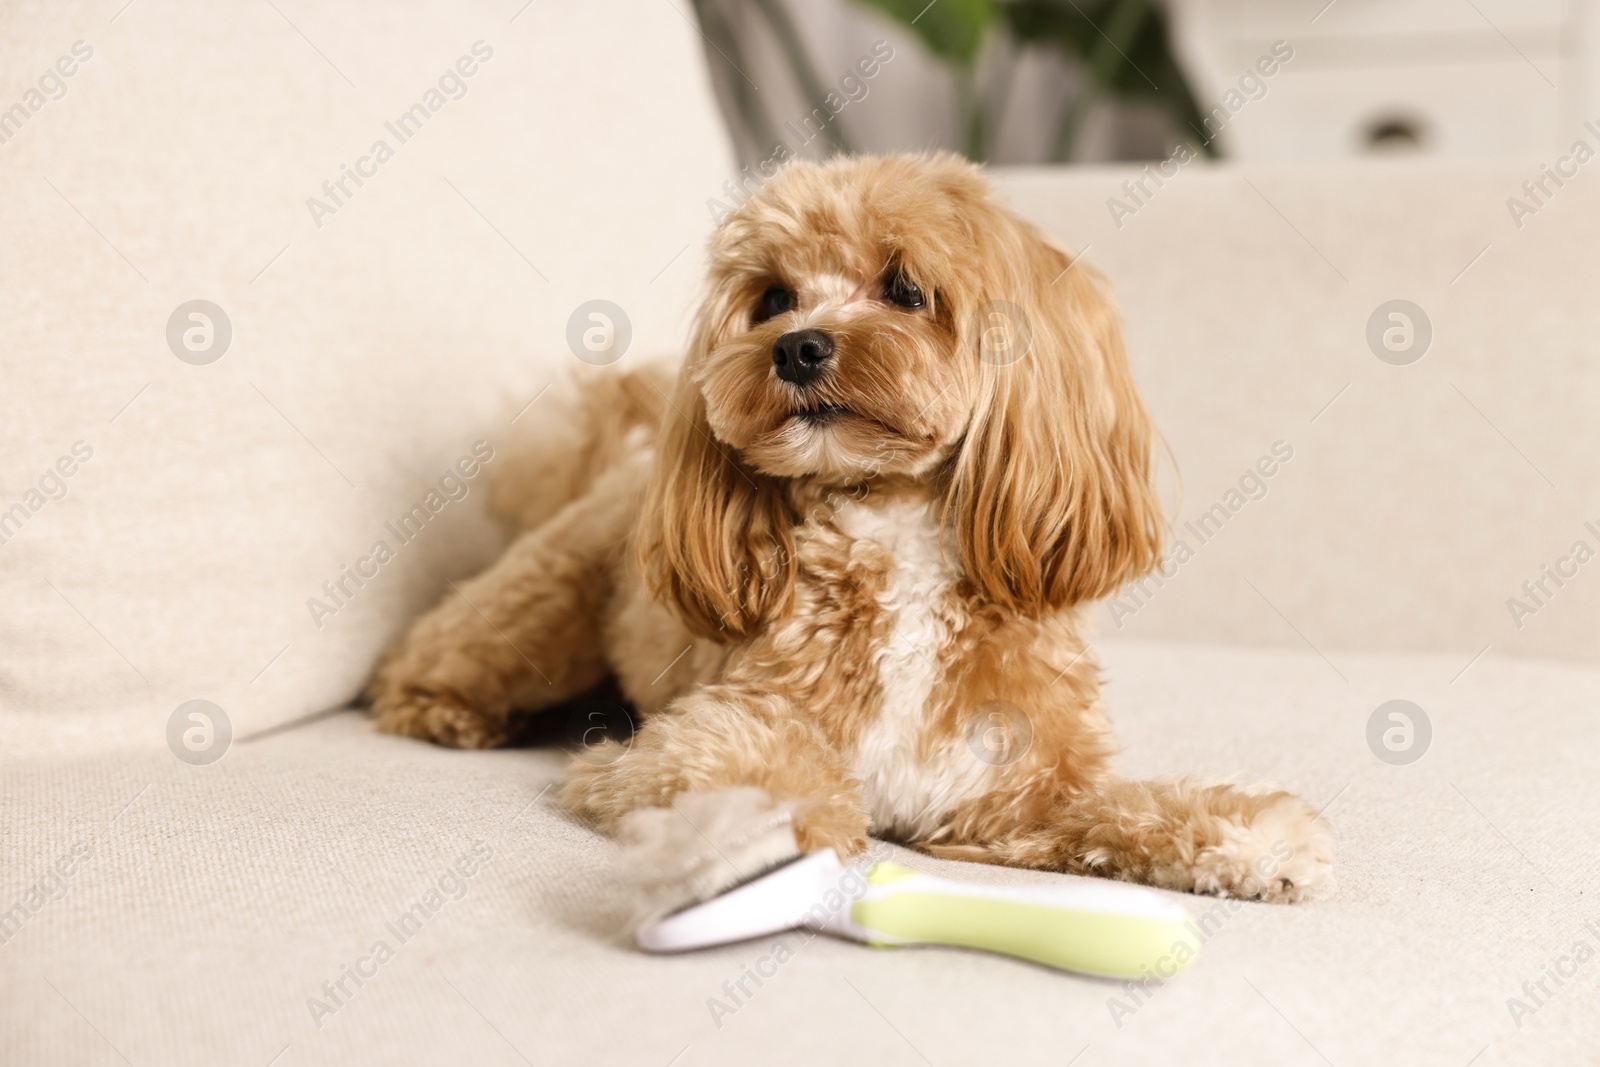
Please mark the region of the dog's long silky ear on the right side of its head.
[[973, 582], [1024, 614], [1098, 600], [1162, 550], [1149, 414], [1104, 280], [995, 211], [958, 314], [981, 360], [947, 506]]

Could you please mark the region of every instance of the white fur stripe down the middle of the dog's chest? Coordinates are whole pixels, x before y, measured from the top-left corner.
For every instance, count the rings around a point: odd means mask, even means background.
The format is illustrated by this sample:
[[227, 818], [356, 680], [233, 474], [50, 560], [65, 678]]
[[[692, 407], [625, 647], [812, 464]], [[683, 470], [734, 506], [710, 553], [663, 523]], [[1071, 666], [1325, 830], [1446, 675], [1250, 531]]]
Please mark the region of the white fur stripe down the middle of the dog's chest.
[[882, 637], [869, 665], [877, 701], [862, 709], [851, 769], [875, 832], [925, 837], [942, 813], [984, 792], [994, 771], [963, 737], [936, 726], [931, 705], [960, 613], [960, 555], [954, 544], [941, 552], [936, 512], [925, 501], [850, 502], [834, 526], [888, 557], [875, 597]]

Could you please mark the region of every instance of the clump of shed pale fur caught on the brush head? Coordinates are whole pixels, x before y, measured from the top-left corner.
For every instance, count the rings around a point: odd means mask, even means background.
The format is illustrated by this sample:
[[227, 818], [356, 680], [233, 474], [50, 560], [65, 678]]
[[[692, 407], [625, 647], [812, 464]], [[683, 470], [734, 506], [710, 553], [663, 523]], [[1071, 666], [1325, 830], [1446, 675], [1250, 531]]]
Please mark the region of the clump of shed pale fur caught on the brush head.
[[787, 805], [750, 785], [680, 793], [622, 817], [621, 869], [638, 886], [635, 921], [709, 901], [800, 854]]

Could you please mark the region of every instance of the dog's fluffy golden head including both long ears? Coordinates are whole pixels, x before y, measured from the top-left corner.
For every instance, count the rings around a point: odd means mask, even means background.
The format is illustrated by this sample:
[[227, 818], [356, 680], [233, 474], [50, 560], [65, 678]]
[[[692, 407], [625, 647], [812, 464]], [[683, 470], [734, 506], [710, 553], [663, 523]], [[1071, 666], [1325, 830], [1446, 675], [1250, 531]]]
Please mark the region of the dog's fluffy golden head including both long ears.
[[794, 163], [712, 238], [640, 528], [710, 637], [789, 606], [786, 482], [925, 482], [978, 590], [1038, 614], [1160, 550], [1152, 430], [1099, 277], [952, 155]]

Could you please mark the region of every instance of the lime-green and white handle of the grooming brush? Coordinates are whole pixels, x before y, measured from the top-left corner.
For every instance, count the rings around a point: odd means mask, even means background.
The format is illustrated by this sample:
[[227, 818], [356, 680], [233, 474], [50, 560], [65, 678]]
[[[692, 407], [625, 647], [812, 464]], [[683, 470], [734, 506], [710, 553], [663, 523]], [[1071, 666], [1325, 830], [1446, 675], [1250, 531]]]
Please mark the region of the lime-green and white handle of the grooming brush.
[[984, 886], [878, 862], [867, 893], [829, 923], [874, 945], [984, 949], [1066, 971], [1171, 977], [1200, 953], [1189, 912], [1117, 881]]

